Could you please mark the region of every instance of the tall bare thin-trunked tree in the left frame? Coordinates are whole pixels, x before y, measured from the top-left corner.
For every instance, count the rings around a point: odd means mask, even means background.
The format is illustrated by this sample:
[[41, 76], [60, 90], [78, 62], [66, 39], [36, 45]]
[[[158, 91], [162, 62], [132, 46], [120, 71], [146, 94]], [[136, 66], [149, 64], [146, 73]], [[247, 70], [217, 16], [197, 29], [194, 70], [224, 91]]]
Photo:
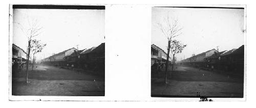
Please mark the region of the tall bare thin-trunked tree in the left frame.
[[27, 69], [26, 69], [26, 82], [28, 83], [28, 75], [29, 75], [29, 58], [30, 58], [30, 50], [31, 50], [31, 41], [35, 36], [38, 36], [42, 33], [42, 27], [39, 25], [39, 22], [37, 19], [33, 18], [32, 20], [30, 20], [29, 17], [27, 17], [27, 21], [28, 21], [28, 26], [24, 27], [23, 24], [20, 24], [16, 21], [14, 21], [14, 24], [17, 24], [19, 26], [19, 28], [23, 31], [23, 33], [28, 37], [28, 54], [27, 54]]

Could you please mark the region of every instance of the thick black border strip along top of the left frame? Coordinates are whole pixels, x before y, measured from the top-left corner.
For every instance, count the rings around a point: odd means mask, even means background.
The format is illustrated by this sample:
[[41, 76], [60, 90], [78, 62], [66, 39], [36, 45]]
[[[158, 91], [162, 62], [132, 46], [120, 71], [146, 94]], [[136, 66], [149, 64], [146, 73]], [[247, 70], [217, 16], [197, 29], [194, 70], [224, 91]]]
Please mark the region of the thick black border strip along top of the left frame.
[[105, 6], [86, 5], [12, 5], [12, 9], [90, 9], [105, 10]]

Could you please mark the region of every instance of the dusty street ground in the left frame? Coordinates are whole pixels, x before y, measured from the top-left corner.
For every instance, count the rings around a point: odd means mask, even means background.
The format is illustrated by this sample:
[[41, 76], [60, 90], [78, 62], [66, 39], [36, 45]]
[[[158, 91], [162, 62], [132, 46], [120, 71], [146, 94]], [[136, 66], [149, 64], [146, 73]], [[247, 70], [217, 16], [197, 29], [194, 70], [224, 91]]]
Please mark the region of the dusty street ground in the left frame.
[[104, 96], [104, 75], [39, 66], [29, 72], [14, 73], [12, 95], [32, 96]]

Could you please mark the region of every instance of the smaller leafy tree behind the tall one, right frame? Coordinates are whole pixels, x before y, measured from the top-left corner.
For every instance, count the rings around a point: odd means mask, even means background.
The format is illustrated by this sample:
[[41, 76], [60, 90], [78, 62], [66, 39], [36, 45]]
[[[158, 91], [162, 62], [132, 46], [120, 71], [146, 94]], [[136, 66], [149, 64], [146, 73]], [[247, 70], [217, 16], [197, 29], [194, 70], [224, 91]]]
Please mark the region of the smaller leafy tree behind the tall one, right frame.
[[175, 65], [175, 54], [181, 53], [182, 50], [186, 47], [186, 45], [181, 44], [180, 41], [178, 40], [173, 40], [172, 44], [170, 45], [171, 52], [173, 54], [173, 67], [172, 71], [174, 70], [174, 65]]

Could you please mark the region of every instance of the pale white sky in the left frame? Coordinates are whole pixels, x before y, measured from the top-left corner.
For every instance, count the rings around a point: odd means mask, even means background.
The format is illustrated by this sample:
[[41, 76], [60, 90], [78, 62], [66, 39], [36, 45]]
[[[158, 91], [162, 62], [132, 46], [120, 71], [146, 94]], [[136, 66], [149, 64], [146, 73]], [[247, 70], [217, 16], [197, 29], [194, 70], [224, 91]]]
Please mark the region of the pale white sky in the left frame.
[[[29, 19], [36, 18], [43, 27], [36, 36], [47, 46], [37, 54], [37, 60], [53, 53], [70, 49], [79, 50], [97, 47], [104, 42], [104, 10], [76, 9], [13, 9], [13, 20], [28, 25]], [[27, 37], [13, 23], [13, 43], [27, 51]]]

